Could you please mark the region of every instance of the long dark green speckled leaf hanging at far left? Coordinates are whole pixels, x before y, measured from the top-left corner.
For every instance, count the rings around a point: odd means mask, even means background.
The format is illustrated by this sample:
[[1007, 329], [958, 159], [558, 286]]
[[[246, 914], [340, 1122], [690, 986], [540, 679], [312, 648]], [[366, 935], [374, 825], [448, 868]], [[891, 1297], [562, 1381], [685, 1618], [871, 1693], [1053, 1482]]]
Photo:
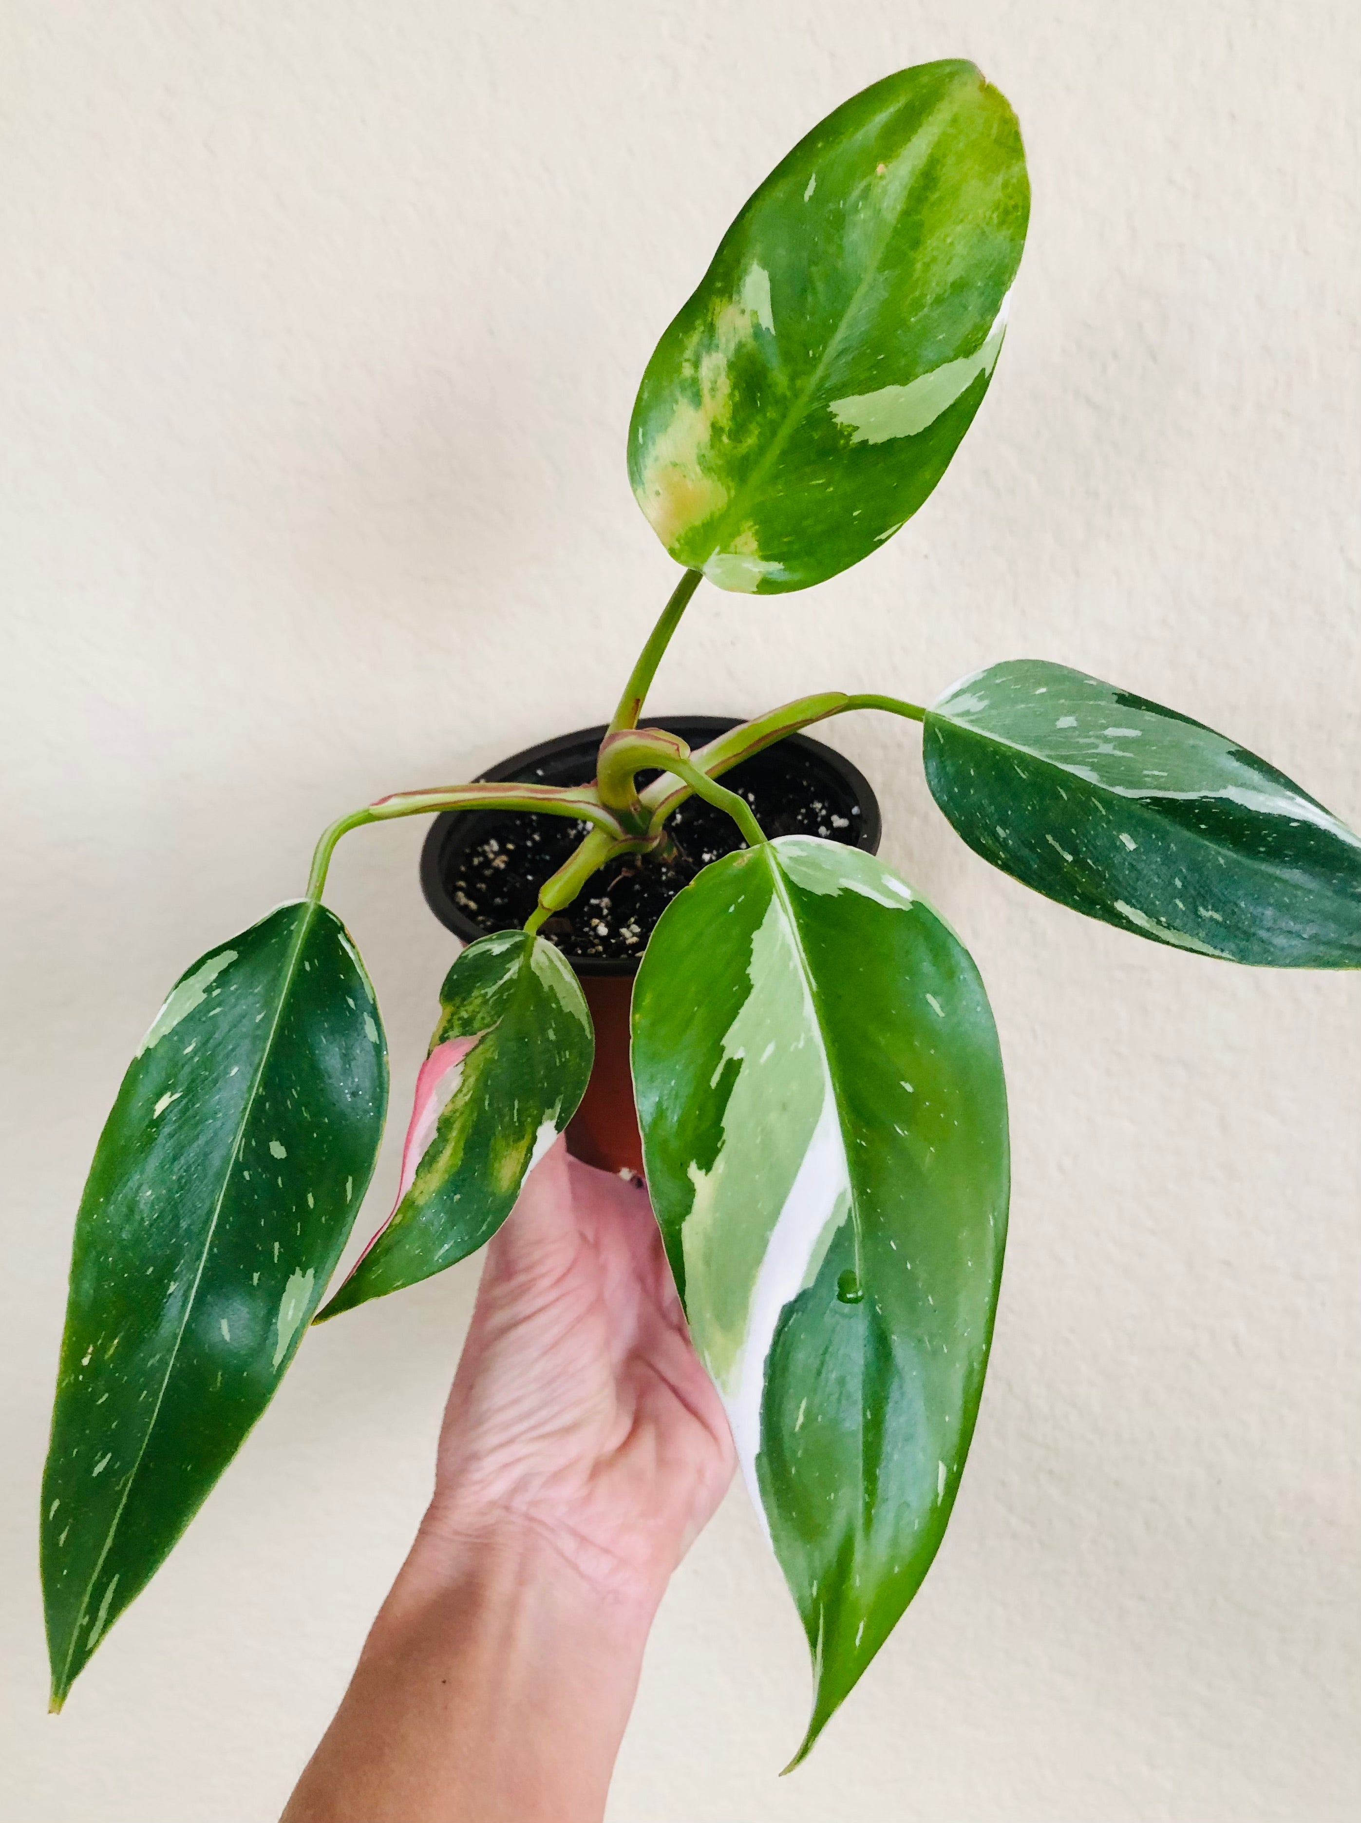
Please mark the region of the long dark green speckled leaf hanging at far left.
[[374, 1169], [388, 1059], [333, 913], [189, 968], [122, 1079], [77, 1216], [42, 1584], [53, 1706], [268, 1406]]

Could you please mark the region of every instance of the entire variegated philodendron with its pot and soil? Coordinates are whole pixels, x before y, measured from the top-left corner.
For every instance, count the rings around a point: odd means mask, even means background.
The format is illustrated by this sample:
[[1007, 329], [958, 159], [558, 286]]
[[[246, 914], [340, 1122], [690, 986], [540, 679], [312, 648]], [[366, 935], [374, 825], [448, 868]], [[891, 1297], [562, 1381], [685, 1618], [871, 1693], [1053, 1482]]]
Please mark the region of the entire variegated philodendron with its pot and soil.
[[[807, 1752], [946, 1529], [1009, 1167], [978, 972], [875, 857], [865, 782], [802, 729], [864, 707], [918, 722], [955, 829], [1069, 910], [1206, 957], [1361, 964], [1361, 840], [1202, 724], [1060, 664], [991, 664], [929, 707], [827, 691], [641, 726], [701, 578], [809, 587], [933, 490], [987, 390], [1028, 208], [1017, 120], [966, 62], [893, 75], [800, 140], [643, 374], [629, 474], [681, 576], [610, 722], [339, 819], [304, 897], [171, 988], [77, 1218], [42, 1495], [55, 1706], [308, 1323], [481, 1247], [590, 1094], [576, 1145], [645, 1169], [807, 1630]], [[348, 831], [421, 813], [441, 817], [426, 895], [472, 941], [395, 1209], [322, 1305], [388, 1094], [326, 870]]]

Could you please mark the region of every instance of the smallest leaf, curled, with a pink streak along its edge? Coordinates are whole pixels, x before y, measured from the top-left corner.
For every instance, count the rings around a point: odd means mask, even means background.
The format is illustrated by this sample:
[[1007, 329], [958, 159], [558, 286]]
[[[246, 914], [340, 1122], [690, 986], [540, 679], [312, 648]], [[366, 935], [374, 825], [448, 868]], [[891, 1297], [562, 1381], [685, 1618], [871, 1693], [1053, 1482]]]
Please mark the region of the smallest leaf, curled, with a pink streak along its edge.
[[397, 1205], [317, 1322], [455, 1265], [576, 1114], [596, 1039], [576, 975], [523, 930], [468, 944], [415, 1085]]

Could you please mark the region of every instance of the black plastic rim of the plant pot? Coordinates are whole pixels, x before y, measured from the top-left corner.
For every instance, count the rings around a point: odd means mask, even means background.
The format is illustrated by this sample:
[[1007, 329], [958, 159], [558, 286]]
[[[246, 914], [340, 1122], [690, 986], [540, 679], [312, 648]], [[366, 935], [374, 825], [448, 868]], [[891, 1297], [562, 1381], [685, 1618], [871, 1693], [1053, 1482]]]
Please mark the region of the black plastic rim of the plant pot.
[[[703, 746], [707, 740], [725, 735], [731, 727], [738, 727], [740, 722], [742, 716], [734, 715], [649, 715], [643, 726], [661, 727], [667, 733], [680, 733], [691, 742], [691, 746]], [[541, 740], [537, 746], [525, 747], [523, 753], [512, 753], [508, 760], [490, 766], [485, 773], [477, 775], [477, 782], [497, 784], [510, 778], [523, 778], [537, 766], [558, 758], [558, 755], [565, 749], [578, 746], [598, 747], [605, 738], [605, 722], [601, 722], [598, 727], [578, 727], [570, 735], [558, 735], [554, 740]], [[845, 755], [838, 753], [834, 747], [825, 746], [822, 740], [813, 740], [809, 735], [785, 735], [774, 747], [763, 749], [763, 757], [774, 755], [780, 747], [813, 755], [820, 764], [840, 775], [860, 808], [860, 831], [853, 846], [873, 855], [878, 850], [884, 826], [875, 789], [860, 767], [853, 766], [851, 760], [847, 760]], [[430, 824], [430, 831], [426, 833], [421, 848], [421, 891], [425, 893], [425, 902], [430, 906], [439, 922], [446, 930], [454, 932], [461, 942], [476, 942], [479, 937], [488, 933], [481, 928], [481, 924], [474, 924], [466, 912], [454, 902], [448, 888], [445, 886], [445, 850], [457, 824], [465, 819], [483, 815], [486, 815], [486, 811], [443, 811]], [[636, 975], [641, 961], [640, 955], [576, 957], [567, 955], [567, 952], [563, 952], [563, 955], [572, 970], [583, 977]]]

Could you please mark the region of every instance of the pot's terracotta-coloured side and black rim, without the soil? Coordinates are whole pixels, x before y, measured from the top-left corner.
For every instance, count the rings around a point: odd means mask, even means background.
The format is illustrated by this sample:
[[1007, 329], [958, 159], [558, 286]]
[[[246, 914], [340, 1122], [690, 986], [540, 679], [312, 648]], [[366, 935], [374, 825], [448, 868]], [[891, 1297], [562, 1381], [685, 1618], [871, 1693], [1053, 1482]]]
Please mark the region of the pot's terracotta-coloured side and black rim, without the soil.
[[[647, 716], [647, 726], [663, 727], [680, 735], [692, 747], [700, 747], [714, 735], [734, 727], [736, 720], [712, 715]], [[558, 740], [547, 740], [543, 746], [516, 753], [481, 777], [488, 780], [523, 778], [556, 786], [585, 784], [596, 777], [596, 753], [603, 736], [603, 724], [583, 727], [574, 735], [561, 735]], [[880, 815], [869, 780], [820, 740], [809, 740], [807, 735], [789, 735], [774, 747], [734, 766], [723, 775], [723, 784], [738, 791], [743, 784], [760, 789], [762, 780], [769, 784], [778, 773], [816, 780], [818, 795], [840, 804], [847, 839], [853, 839], [856, 848], [875, 853]], [[503, 820], [507, 813], [448, 811], [435, 817], [421, 850], [421, 888], [426, 904], [439, 922], [463, 942], [474, 942], [486, 932], [455, 902], [452, 882], [457, 877], [461, 857], [483, 839], [490, 815]], [[596, 1025], [596, 1065], [581, 1107], [567, 1128], [567, 1147], [587, 1165], [641, 1176], [643, 1141], [638, 1132], [638, 1110], [634, 1108], [629, 1070], [629, 1003], [638, 959], [565, 953], [581, 981]]]

